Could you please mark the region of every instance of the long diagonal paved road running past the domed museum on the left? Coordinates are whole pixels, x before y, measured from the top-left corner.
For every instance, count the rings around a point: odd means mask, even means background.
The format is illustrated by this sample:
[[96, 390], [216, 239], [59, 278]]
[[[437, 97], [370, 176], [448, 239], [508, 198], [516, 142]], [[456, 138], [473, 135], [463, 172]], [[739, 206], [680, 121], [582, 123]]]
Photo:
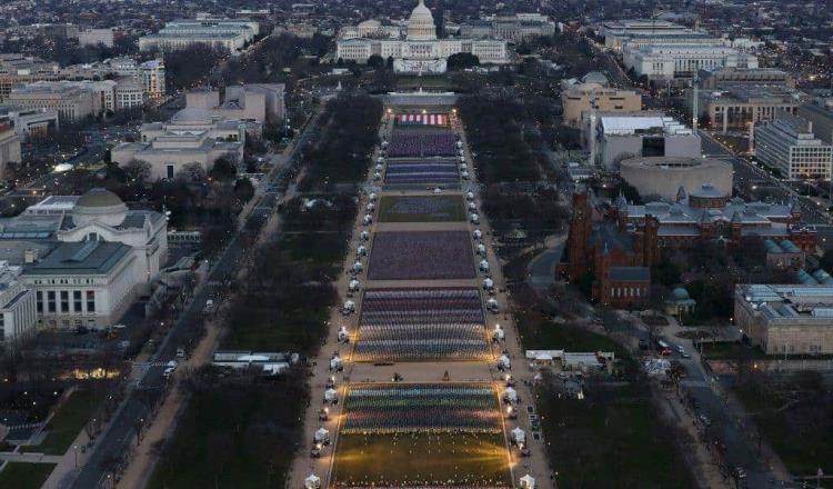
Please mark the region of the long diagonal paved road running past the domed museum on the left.
[[[317, 114], [299, 136], [298, 143], [291, 150], [283, 170], [281, 170], [272, 181], [268, 183], [264, 182], [264, 184], [270, 186], [270, 189], [275, 189], [269, 193], [277, 193], [279, 191], [277, 189], [280, 187], [275, 183], [281, 180], [284, 172], [291, 171], [292, 166], [297, 162], [300, 149], [304, 147], [309, 138], [314, 133], [314, 128], [318, 122], [319, 116]], [[279, 199], [275, 201], [278, 200]], [[249, 216], [249, 220], [260, 220], [259, 222], [255, 221], [259, 228], [265, 222], [265, 217], [275, 210], [274, 207], [270, 209], [258, 207]], [[198, 315], [202, 313], [205, 300], [211, 298], [214, 292], [214, 285], [222, 283], [224, 280], [232, 278], [237, 272], [243, 253], [243, 244], [240, 236], [240, 233], [234, 234], [223, 253], [211, 267], [208, 280], [205, 281], [205, 287], [198, 290], [189, 307], [182, 312], [177, 325], [168, 333], [164, 342], [151, 359], [152, 362], [163, 363], [175, 358], [177, 348], [183, 343], [183, 338], [187, 338], [188, 336], [185, 326], [195, 319]], [[139, 390], [150, 390], [151, 392], [161, 395], [162, 386], [164, 383], [164, 378], [162, 376], [163, 371], [164, 367], [148, 368], [144, 375], [140, 378], [138, 385], [129, 390], [119, 411], [117, 411], [116, 417], [111, 421], [110, 427], [99, 438], [93, 448], [93, 452], [90, 455], [89, 461], [79, 471], [70, 487], [77, 489], [90, 489], [101, 487], [102, 483], [106, 483], [108, 477], [107, 461], [111, 457], [119, 456], [127, 451], [133, 441], [137, 423], [148, 417], [148, 403], [143, 402], [137, 392]]]

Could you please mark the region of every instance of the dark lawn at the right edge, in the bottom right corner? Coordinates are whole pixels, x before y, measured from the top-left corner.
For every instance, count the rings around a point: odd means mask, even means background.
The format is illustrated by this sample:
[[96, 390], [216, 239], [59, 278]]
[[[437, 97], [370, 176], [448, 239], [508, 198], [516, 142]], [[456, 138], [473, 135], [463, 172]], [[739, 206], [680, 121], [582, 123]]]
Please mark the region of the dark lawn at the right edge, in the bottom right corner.
[[734, 392], [792, 473], [814, 476], [820, 467], [833, 473], [833, 393], [802, 395], [791, 402], [777, 390], [735, 387]]

